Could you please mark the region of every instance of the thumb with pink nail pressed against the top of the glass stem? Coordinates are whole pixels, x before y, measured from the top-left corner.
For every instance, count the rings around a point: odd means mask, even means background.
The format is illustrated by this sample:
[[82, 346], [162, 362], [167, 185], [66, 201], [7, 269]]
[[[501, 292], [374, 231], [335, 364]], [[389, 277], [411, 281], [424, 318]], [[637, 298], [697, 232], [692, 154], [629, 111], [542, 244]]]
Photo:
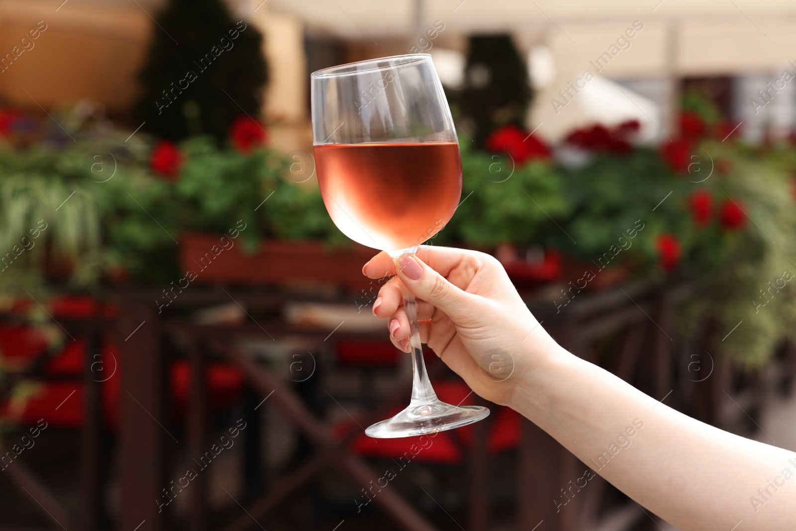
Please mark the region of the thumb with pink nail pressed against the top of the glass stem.
[[464, 317], [471, 306], [470, 294], [448, 282], [413, 254], [405, 253], [396, 260], [396, 273], [418, 299], [437, 306], [454, 321]]

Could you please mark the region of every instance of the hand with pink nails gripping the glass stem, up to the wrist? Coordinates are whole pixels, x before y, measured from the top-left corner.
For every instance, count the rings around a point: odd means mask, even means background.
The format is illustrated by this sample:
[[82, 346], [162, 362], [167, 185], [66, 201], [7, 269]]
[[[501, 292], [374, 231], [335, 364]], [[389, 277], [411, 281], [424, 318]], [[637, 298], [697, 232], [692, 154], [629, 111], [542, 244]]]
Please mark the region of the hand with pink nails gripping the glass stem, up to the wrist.
[[486, 400], [508, 404], [515, 382], [560, 349], [500, 262], [482, 252], [423, 246], [395, 261], [380, 252], [362, 272], [371, 279], [397, 274], [373, 303], [373, 314], [388, 320], [392, 343], [410, 351], [400, 279], [417, 299], [420, 341]]

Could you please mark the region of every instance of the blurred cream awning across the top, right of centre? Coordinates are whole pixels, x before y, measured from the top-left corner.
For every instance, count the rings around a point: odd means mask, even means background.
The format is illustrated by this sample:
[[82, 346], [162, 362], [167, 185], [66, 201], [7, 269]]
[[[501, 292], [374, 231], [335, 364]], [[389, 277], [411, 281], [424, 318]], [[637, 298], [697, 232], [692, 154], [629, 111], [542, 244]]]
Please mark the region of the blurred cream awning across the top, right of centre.
[[[257, 3], [257, 2], [255, 2]], [[560, 72], [581, 68], [634, 21], [633, 53], [608, 77], [659, 75], [673, 53], [680, 74], [767, 72], [796, 60], [796, 2], [786, 0], [268, 0], [310, 30], [369, 43], [412, 38], [434, 21], [451, 35], [508, 31], [523, 47], [545, 42]], [[574, 70], [573, 70], [574, 69]]]

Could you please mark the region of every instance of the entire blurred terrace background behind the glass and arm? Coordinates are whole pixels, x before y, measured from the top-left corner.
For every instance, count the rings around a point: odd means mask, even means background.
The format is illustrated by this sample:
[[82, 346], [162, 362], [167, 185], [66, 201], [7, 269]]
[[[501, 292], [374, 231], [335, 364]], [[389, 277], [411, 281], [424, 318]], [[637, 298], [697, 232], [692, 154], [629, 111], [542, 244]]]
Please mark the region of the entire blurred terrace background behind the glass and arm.
[[318, 192], [309, 75], [404, 53], [462, 150], [428, 244], [796, 450], [792, 2], [0, 0], [0, 26], [0, 529], [674, 529], [431, 352], [490, 417], [365, 437], [411, 364]]

